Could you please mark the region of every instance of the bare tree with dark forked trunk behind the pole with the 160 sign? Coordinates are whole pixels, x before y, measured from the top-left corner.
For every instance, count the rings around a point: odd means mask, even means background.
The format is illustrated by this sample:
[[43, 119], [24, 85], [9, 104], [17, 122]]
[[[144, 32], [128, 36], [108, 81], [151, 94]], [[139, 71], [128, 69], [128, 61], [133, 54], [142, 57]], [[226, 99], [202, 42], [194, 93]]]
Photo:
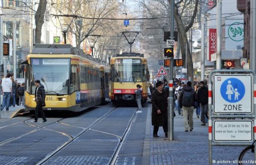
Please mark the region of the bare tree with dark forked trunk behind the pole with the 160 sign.
[[[151, 29], [149, 30], [148, 34], [152, 34], [154, 30], [161, 30], [159, 34], [162, 34], [164, 36], [164, 31], [169, 31], [170, 29], [170, 0], [138, 0], [141, 8], [143, 11], [143, 14], [151, 17], [158, 17], [159, 19], [156, 21], [146, 21], [144, 22], [147, 26], [147, 28], [144, 27], [144, 29]], [[188, 36], [187, 32], [188, 30], [193, 26], [194, 19], [196, 18], [196, 15], [198, 14], [198, 8], [199, 8], [199, 1], [200, 4], [204, 4], [205, 0], [175, 0], [175, 21], [176, 26], [178, 28], [178, 34], [179, 34], [179, 41], [181, 46], [181, 55], [182, 59], [184, 61], [184, 65], [186, 64], [186, 52], [187, 52], [187, 70], [188, 70], [188, 77], [191, 77], [191, 80], [193, 80], [193, 62], [191, 57], [191, 52], [188, 46]], [[154, 33], [153, 33], [154, 34]], [[185, 49], [187, 45], [187, 50]], [[159, 46], [163, 52], [163, 48]], [[163, 53], [160, 53], [161, 55]]]

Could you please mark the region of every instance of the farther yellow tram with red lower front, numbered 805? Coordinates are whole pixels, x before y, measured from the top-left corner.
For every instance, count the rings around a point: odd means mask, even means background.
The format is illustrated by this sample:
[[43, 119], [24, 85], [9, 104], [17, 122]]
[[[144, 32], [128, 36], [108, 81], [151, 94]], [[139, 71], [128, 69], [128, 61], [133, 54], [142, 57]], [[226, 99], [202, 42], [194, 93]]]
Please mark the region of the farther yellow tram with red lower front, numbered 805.
[[136, 85], [142, 86], [142, 103], [147, 100], [147, 59], [140, 53], [123, 53], [110, 58], [109, 96], [114, 104], [136, 103]]

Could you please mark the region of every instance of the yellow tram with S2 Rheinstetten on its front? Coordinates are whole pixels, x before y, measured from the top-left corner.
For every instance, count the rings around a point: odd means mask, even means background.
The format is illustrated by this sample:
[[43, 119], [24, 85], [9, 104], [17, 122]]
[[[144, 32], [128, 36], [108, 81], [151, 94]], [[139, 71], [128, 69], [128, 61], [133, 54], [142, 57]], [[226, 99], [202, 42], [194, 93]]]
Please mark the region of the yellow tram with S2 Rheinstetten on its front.
[[44, 110], [79, 112], [108, 99], [109, 65], [71, 45], [36, 44], [28, 54], [25, 72], [26, 110], [36, 107], [34, 82], [45, 89]]

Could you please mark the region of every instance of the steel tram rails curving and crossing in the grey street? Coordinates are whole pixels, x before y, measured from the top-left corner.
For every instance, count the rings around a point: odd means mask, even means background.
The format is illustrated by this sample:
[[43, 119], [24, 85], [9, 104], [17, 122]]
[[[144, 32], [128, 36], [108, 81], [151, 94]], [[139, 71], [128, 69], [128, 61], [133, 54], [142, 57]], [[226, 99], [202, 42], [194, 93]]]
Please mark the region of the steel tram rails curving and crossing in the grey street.
[[[36, 127], [36, 128], [34, 128], [32, 130], [29, 130], [29, 131], [26, 130], [26, 132], [21, 133], [21, 134], [19, 134], [17, 136], [13, 136], [12, 138], [6, 139], [4, 141], [0, 141], [0, 147], [2, 147], [2, 146], [4, 147], [6, 144], [14, 142], [15, 140], [23, 138], [24, 136], [27, 136], [27, 135], [29, 135], [31, 137], [31, 135], [33, 136], [33, 133], [36, 133], [39, 130], [52, 131], [52, 132], [58, 133], [60, 135], [66, 136], [68, 138], [67, 140], [62, 141], [60, 144], [58, 144], [58, 146], [56, 146], [56, 148], [54, 148], [53, 150], [48, 152], [48, 154], [46, 153], [47, 155], [45, 155], [44, 157], [41, 157], [41, 159], [38, 159], [36, 162], [33, 163], [33, 165], [44, 165], [44, 164], [47, 164], [49, 160], [50, 161], [54, 161], [55, 158], [53, 158], [53, 157], [56, 154], [58, 154], [61, 151], [63, 151], [63, 149], [65, 147], [67, 147], [69, 144], [73, 145], [72, 142], [75, 141], [76, 139], [78, 139], [79, 137], [81, 137], [81, 135], [86, 134], [87, 131], [97, 131], [97, 132], [100, 132], [102, 134], [107, 134], [107, 135], [110, 135], [110, 136], [115, 136], [117, 138], [117, 141], [116, 141], [117, 144], [114, 145], [115, 147], [113, 147], [112, 152], [109, 152], [110, 155], [108, 156], [108, 160], [107, 160], [108, 163], [106, 163], [107, 165], [114, 165], [115, 162], [118, 159], [118, 154], [119, 154], [120, 150], [122, 149], [122, 146], [123, 146], [123, 143], [124, 143], [124, 141], [126, 139], [126, 136], [128, 135], [128, 133], [129, 133], [129, 131], [131, 129], [131, 126], [132, 126], [133, 122], [136, 120], [136, 116], [137, 116], [135, 114], [135, 111], [133, 113], [128, 113], [128, 114], [130, 114], [130, 117], [126, 118], [127, 119], [126, 124], [122, 125], [122, 127], [120, 127], [123, 130], [121, 134], [120, 134], [120, 132], [118, 133], [118, 132], [115, 132], [115, 131], [113, 133], [112, 132], [113, 130], [109, 130], [109, 131], [108, 130], [106, 130], [106, 131], [100, 130], [99, 129], [100, 127], [98, 127], [98, 126], [105, 124], [105, 120], [104, 119], [106, 119], [108, 121], [109, 119], [112, 119], [113, 116], [116, 116], [116, 114], [118, 114], [117, 112], [115, 112], [112, 115], [110, 115], [115, 110], [117, 110], [117, 111], [120, 110], [120, 109], [117, 109], [117, 108], [118, 107], [113, 107], [113, 108], [109, 109], [107, 112], [98, 115], [98, 117], [93, 119], [92, 122], [89, 123], [89, 125], [87, 125], [87, 127], [83, 127], [83, 126], [79, 127], [77, 125], [72, 125], [72, 124], [69, 124], [69, 123], [65, 123], [63, 121], [63, 119], [68, 119], [68, 118], [61, 118], [61, 119], [58, 119], [57, 121], [54, 121], [54, 122], [45, 123], [42, 126], [30, 123], [29, 120], [31, 120], [32, 118], [29, 118], [29, 119], [26, 119], [26, 120], [23, 120], [23, 121], [20, 121], [20, 122], [11, 123], [11, 124], [5, 125], [3, 127], [0, 127], [0, 130], [1, 130], [1, 128], [3, 129], [3, 128], [6, 128], [6, 127], [12, 128], [11, 126], [14, 126], [16, 124], [19, 125], [21, 123], [25, 123], [25, 124], [27, 124], [27, 125], [29, 125], [31, 127]], [[122, 109], [122, 111], [123, 111], [123, 109]], [[107, 118], [108, 116], [109, 116], [109, 118]], [[81, 119], [83, 119], [83, 118], [81, 118]], [[97, 125], [97, 123], [99, 123], [99, 125]], [[67, 133], [67, 131], [63, 131], [63, 130], [60, 131], [60, 130], [58, 130], [59, 128], [61, 128], [61, 129], [64, 128], [65, 129], [65, 127], [59, 127], [59, 126], [56, 127], [56, 124], [67, 126], [67, 127], [79, 128], [81, 130], [78, 129], [75, 134], [72, 133], [72, 131], [71, 131], [71, 133], [70, 132]], [[51, 127], [49, 128], [49, 126], [51, 126]], [[94, 127], [94, 126], [96, 126], [96, 127]], [[95, 129], [93, 129], [93, 127]], [[88, 140], [90, 140], [90, 139], [88, 139]]]

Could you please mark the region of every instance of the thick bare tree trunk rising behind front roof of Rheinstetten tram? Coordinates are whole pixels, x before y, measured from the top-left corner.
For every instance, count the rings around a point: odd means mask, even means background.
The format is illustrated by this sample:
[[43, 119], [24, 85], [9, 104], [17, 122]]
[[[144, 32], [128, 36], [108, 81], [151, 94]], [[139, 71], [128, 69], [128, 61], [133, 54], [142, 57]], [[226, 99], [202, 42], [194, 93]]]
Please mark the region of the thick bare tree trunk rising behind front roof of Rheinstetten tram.
[[46, 10], [46, 0], [40, 0], [35, 16], [36, 21], [36, 41], [35, 43], [41, 43], [42, 26], [44, 24], [44, 13]]

